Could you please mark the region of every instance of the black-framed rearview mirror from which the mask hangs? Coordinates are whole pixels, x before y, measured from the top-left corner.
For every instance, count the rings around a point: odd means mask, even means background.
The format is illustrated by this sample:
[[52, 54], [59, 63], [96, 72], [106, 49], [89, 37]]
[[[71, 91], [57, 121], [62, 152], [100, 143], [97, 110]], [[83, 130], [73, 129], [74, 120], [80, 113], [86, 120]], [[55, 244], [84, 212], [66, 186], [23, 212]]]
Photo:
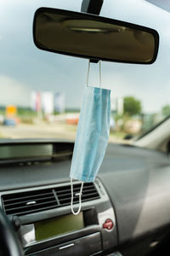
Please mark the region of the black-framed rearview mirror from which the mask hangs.
[[148, 27], [61, 9], [37, 9], [34, 43], [64, 55], [94, 61], [151, 64], [156, 61], [159, 36]]

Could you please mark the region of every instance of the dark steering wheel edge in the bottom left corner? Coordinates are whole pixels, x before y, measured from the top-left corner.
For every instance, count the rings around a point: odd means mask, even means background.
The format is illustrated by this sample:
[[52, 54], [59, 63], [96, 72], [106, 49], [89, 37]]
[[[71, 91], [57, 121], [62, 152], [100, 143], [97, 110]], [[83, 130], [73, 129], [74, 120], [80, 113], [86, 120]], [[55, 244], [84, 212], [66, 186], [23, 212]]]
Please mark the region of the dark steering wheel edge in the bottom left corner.
[[23, 256], [24, 252], [7, 216], [0, 208], [0, 255]]

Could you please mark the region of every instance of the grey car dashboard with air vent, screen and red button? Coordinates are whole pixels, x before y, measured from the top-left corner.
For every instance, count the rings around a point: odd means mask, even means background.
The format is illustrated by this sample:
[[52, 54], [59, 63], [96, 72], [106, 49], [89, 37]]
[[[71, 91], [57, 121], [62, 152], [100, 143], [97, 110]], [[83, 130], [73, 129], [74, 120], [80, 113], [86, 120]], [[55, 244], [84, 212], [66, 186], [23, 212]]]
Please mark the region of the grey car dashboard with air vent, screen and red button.
[[[26, 255], [149, 255], [170, 231], [167, 154], [109, 144], [71, 213], [72, 142], [1, 143], [0, 206]], [[80, 189], [74, 183], [74, 193]], [[75, 197], [76, 208], [78, 198]]]

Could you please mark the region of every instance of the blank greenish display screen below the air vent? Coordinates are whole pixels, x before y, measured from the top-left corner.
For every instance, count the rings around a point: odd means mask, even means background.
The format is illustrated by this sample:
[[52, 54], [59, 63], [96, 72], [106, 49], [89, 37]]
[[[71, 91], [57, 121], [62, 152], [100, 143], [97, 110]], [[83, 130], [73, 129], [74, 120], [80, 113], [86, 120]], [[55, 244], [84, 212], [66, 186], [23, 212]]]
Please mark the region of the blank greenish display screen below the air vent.
[[51, 218], [49, 220], [42, 220], [34, 224], [36, 240], [41, 241], [53, 236], [81, 230], [84, 228], [83, 214], [65, 215], [58, 218]]

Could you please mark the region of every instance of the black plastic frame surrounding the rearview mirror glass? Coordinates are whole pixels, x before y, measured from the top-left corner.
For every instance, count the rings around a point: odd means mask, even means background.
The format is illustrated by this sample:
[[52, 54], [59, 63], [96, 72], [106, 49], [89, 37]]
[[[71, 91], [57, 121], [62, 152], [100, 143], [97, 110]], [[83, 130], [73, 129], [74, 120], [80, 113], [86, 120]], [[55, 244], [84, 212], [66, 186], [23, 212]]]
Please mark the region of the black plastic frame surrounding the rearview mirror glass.
[[[109, 58], [99, 58], [96, 56], [92, 56], [92, 55], [81, 55], [81, 54], [75, 54], [75, 53], [69, 53], [69, 52], [65, 52], [65, 51], [60, 51], [60, 50], [56, 50], [56, 49], [48, 49], [47, 47], [42, 46], [42, 44], [39, 44], [37, 41], [37, 37], [36, 37], [36, 29], [37, 29], [37, 16], [41, 15], [44, 12], [48, 12], [51, 14], [58, 14], [58, 15], [69, 15], [70, 17], [74, 17], [75, 15], [77, 18], [83, 18], [83, 20], [96, 20], [96, 21], [100, 21], [100, 22], [105, 22], [105, 23], [110, 23], [110, 24], [114, 24], [117, 26], [127, 26], [128, 28], [132, 28], [132, 29], [136, 29], [136, 30], [140, 30], [143, 32], [149, 32], [153, 35], [154, 39], [155, 39], [155, 51], [154, 51], [154, 55], [153, 58], [150, 61], [120, 61], [120, 60], [116, 60], [116, 59], [109, 59]], [[46, 50], [49, 52], [54, 52], [57, 54], [62, 54], [62, 55], [70, 55], [70, 56], [74, 56], [74, 57], [81, 57], [84, 59], [90, 59], [93, 61], [111, 61], [111, 62], [122, 62], [122, 63], [132, 63], [132, 64], [152, 64], [153, 62], [156, 61], [156, 57], [157, 57], [157, 52], [158, 52], [158, 47], [159, 47], [159, 34], [158, 32], [156, 32], [156, 30], [151, 29], [149, 27], [145, 27], [145, 26], [139, 26], [133, 23], [128, 23], [125, 21], [121, 21], [121, 20], [113, 20], [110, 18], [105, 18], [105, 17], [101, 17], [99, 15], [89, 15], [86, 13], [78, 13], [78, 12], [73, 12], [70, 10], [63, 10], [63, 9], [51, 9], [51, 8], [45, 8], [42, 7], [40, 9], [37, 9], [35, 15], [34, 15], [34, 20], [33, 20], [33, 40], [34, 40], [34, 44], [36, 44], [38, 49], [42, 49], [42, 50]]]

